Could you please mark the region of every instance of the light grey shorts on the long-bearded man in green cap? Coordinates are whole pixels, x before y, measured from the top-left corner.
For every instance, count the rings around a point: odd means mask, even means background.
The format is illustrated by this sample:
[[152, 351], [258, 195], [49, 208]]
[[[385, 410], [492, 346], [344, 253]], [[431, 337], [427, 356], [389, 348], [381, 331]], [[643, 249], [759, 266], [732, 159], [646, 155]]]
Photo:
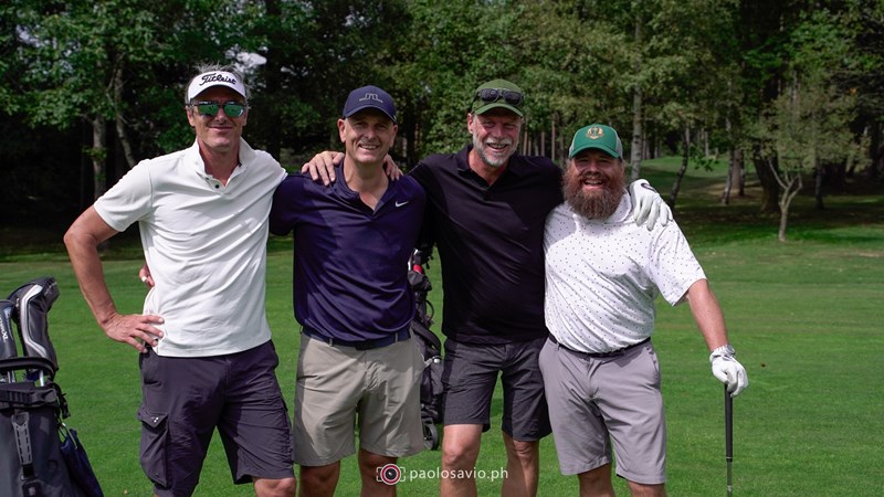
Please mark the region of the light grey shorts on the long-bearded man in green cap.
[[607, 358], [547, 341], [540, 369], [564, 475], [610, 463], [613, 447], [618, 476], [646, 485], [666, 482], [660, 364], [650, 341]]

